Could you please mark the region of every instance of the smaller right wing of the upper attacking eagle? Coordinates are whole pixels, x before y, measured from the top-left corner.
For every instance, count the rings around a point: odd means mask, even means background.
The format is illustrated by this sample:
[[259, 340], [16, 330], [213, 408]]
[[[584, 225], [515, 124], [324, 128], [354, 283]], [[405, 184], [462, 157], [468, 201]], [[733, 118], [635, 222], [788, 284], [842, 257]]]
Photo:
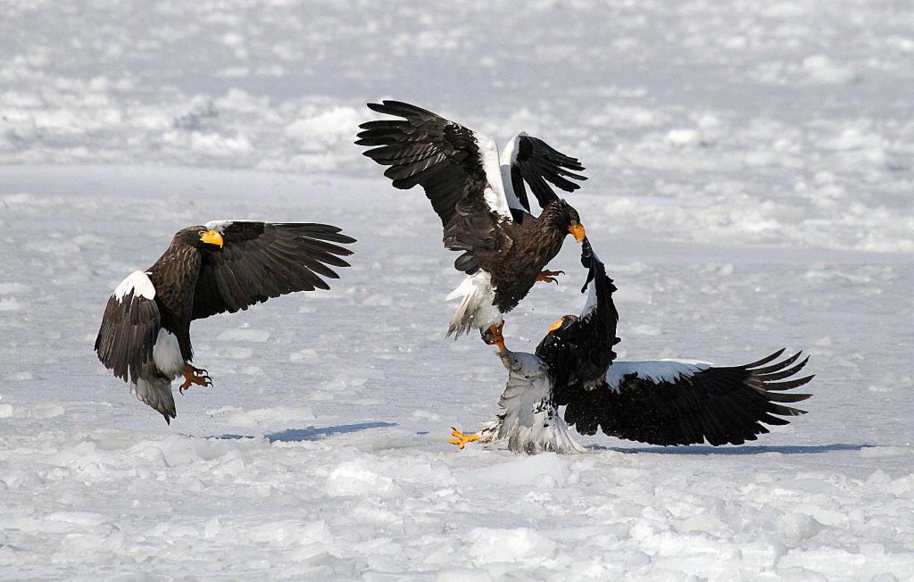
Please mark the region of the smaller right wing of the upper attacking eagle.
[[539, 206], [545, 208], [549, 202], [558, 200], [558, 196], [549, 184], [555, 185], [565, 192], [573, 192], [580, 185], [569, 178], [587, 179], [587, 176], [570, 171], [583, 171], [584, 166], [580, 164], [578, 158], [561, 153], [548, 143], [523, 132], [515, 135], [515, 138], [508, 143], [505, 153], [502, 153], [501, 162], [502, 175], [510, 175], [511, 190], [527, 212], [531, 210], [530, 201], [526, 196], [525, 182], [533, 191], [533, 196], [537, 197]]

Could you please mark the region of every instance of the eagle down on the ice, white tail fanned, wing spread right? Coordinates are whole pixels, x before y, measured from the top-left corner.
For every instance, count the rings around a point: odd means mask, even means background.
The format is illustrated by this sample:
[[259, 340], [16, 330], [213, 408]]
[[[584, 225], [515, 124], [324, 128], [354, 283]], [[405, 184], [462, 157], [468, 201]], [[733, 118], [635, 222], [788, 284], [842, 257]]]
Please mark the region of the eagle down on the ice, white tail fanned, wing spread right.
[[[590, 269], [587, 302], [580, 316], [566, 315], [553, 323], [536, 354], [505, 349], [497, 334], [508, 381], [502, 414], [478, 434], [453, 429], [452, 444], [461, 449], [479, 440], [494, 446], [504, 439], [508, 449], [536, 453], [581, 452], [569, 426], [593, 435], [597, 429], [619, 439], [656, 445], [742, 444], [768, 432], [765, 425], [784, 425], [804, 410], [783, 406], [809, 394], [787, 393], [813, 376], [792, 378], [808, 357], [801, 353], [777, 360], [779, 350], [747, 365], [721, 367], [695, 361], [616, 362], [612, 346], [619, 343], [619, 314], [612, 302], [615, 287], [585, 240], [581, 262]], [[564, 419], [558, 407], [565, 406]]]

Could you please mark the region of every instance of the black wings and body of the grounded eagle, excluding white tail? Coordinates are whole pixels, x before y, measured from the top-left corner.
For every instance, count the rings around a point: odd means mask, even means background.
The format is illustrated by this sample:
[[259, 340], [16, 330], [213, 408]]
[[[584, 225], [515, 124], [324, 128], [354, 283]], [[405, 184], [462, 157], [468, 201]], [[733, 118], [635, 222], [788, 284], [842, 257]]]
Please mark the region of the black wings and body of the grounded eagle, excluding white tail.
[[677, 379], [641, 377], [634, 366], [609, 386], [607, 370], [626, 365], [615, 362], [612, 351], [619, 342], [619, 312], [612, 301], [616, 288], [586, 242], [582, 262], [590, 263], [588, 280], [595, 286], [596, 303], [581, 317], [563, 318], [537, 346], [537, 356], [549, 367], [551, 399], [566, 407], [565, 420], [579, 433], [593, 435], [601, 429], [612, 437], [657, 445], [743, 444], [767, 433], [765, 425], [788, 424], [781, 417], [805, 414], [784, 403], [810, 397], [785, 392], [813, 379], [794, 376], [808, 358], [797, 364], [798, 353], [774, 363], [784, 350], [747, 365], [706, 366]]

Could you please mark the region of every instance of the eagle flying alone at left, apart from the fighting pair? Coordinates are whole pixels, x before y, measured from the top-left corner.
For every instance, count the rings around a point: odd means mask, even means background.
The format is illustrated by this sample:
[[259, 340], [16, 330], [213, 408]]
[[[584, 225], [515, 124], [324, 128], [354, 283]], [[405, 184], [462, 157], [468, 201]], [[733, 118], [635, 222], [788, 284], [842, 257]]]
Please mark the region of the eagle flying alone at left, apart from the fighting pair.
[[95, 352], [131, 392], [171, 423], [171, 382], [212, 386], [207, 371], [190, 365], [190, 323], [216, 313], [246, 310], [293, 291], [330, 289], [338, 279], [327, 265], [348, 267], [352, 251], [332, 243], [355, 238], [322, 224], [217, 220], [178, 231], [149, 270], [137, 270], [112, 293], [95, 339]]

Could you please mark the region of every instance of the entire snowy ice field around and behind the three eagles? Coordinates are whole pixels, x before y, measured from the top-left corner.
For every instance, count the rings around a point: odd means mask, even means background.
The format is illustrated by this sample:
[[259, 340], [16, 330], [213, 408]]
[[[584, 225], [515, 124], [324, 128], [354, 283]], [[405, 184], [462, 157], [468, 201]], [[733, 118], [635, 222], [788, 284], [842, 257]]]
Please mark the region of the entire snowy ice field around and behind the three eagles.
[[[914, 5], [38, 0], [0, 16], [0, 578], [914, 579]], [[622, 358], [812, 355], [756, 443], [447, 444], [505, 369], [352, 144], [378, 99], [579, 156]], [[171, 426], [102, 368], [179, 228], [324, 221], [331, 291], [193, 325]], [[569, 238], [505, 326], [578, 312]]]

